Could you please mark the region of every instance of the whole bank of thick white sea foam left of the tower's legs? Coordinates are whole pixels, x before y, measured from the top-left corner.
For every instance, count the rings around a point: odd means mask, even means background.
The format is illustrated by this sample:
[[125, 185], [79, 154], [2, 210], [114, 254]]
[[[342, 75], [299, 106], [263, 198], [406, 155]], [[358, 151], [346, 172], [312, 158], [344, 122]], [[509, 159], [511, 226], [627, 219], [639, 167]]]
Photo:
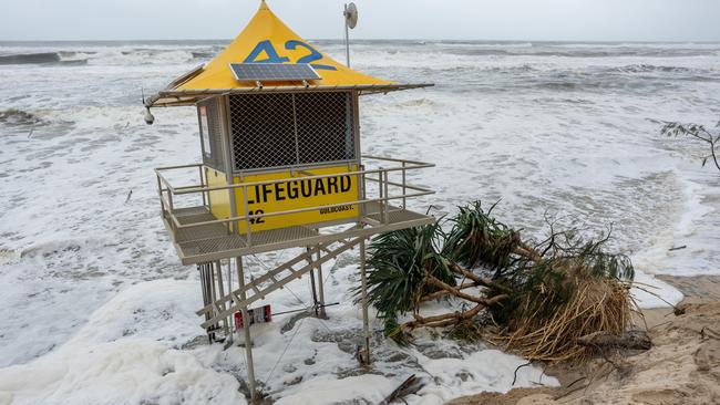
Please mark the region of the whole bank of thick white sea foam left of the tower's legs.
[[245, 404], [232, 375], [172, 347], [171, 334], [193, 330], [196, 287], [160, 280], [126, 289], [55, 351], [1, 368], [0, 403]]

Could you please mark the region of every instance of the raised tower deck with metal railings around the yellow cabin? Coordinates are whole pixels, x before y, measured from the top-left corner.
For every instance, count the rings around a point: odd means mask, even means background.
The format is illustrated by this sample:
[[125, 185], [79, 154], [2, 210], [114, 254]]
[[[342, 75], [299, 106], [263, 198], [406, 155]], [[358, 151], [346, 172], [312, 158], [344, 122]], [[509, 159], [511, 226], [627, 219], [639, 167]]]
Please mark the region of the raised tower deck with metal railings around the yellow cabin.
[[[253, 231], [249, 226], [244, 227], [239, 222], [251, 224], [260, 218], [332, 209], [338, 208], [340, 205], [306, 207], [271, 214], [253, 214], [245, 205], [245, 212], [240, 212], [236, 217], [217, 218], [210, 212], [210, 193], [223, 189], [229, 191], [236, 188], [247, 190], [259, 185], [275, 185], [282, 181], [298, 180], [298, 178], [302, 180], [321, 179], [327, 178], [328, 175], [304, 174], [302, 170], [299, 170], [301, 177], [218, 187], [207, 186], [202, 164], [164, 167], [155, 170], [161, 198], [161, 215], [183, 264], [210, 262], [278, 249], [310, 247], [358, 237], [368, 238], [376, 233], [422, 226], [434, 221], [432, 216], [405, 208], [408, 199], [434, 194], [434, 191], [425, 187], [409, 184], [407, 181], [408, 172], [432, 167], [433, 165], [372, 156], [363, 156], [363, 158], [380, 160], [394, 166], [373, 169], [361, 167], [359, 170], [348, 173], [348, 175], [358, 177], [361, 185], [361, 197], [356, 201], [342, 204], [342, 206], [356, 206], [359, 212], [357, 217]], [[199, 169], [197, 170], [199, 173], [199, 185], [175, 187], [165, 176], [168, 172], [193, 169], [195, 167]], [[398, 179], [395, 180], [393, 177], [398, 177]], [[244, 195], [247, 195], [247, 193], [244, 193]], [[182, 208], [177, 208], [179, 199], [189, 199], [197, 202], [185, 204]], [[232, 229], [239, 229], [240, 231], [232, 231]]]

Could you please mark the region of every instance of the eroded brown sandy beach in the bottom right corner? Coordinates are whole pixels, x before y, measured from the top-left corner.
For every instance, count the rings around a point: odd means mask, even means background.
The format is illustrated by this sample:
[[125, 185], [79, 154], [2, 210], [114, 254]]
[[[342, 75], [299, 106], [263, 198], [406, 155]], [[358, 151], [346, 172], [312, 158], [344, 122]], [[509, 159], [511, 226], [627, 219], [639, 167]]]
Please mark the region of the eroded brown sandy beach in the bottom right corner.
[[560, 387], [483, 393], [450, 404], [720, 404], [720, 277], [659, 278], [686, 298], [677, 311], [642, 311], [649, 351], [613, 353], [578, 367], [548, 366], [545, 372]]

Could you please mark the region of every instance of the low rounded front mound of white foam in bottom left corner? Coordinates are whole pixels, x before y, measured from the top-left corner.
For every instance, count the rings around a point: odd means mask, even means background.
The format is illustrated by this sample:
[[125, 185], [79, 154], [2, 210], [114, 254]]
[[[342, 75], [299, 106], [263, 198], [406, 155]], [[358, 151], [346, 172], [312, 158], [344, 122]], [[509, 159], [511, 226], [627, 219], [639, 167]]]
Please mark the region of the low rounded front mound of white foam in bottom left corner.
[[147, 339], [75, 345], [0, 371], [7, 404], [245, 404], [238, 382]]

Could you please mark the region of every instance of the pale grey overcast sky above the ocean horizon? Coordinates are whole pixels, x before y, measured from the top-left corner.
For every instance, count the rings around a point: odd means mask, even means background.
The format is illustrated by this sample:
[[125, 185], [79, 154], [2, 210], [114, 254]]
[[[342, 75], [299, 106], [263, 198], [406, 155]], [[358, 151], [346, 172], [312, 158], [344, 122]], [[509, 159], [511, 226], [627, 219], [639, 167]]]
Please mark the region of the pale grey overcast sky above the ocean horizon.
[[[353, 38], [720, 41], [720, 0], [357, 0]], [[259, 0], [2, 0], [3, 40], [230, 39]], [[339, 39], [338, 0], [268, 0], [300, 35]]]

